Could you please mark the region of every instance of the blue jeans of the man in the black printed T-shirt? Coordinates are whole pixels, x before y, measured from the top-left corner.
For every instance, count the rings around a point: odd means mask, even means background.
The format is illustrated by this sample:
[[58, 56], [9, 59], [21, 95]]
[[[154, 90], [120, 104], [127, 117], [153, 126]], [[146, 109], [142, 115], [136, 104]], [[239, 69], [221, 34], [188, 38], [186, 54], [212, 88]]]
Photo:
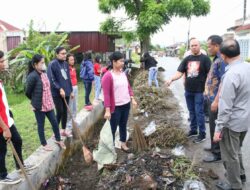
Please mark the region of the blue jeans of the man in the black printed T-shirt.
[[189, 111], [191, 131], [197, 132], [197, 129], [199, 128], [199, 134], [206, 135], [203, 93], [186, 91], [185, 98]]

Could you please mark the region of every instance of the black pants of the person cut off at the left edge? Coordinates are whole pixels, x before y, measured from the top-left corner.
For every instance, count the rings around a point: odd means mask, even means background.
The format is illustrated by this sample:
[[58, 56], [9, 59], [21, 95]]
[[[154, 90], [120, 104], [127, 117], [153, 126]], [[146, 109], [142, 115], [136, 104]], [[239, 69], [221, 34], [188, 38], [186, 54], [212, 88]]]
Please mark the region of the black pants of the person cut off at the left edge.
[[[19, 135], [15, 125], [12, 125], [10, 128], [10, 132], [12, 135], [11, 141], [16, 149], [16, 152], [21, 160], [21, 162], [23, 163], [23, 157], [22, 157], [22, 138]], [[8, 173], [7, 173], [7, 169], [6, 169], [6, 165], [5, 165], [5, 156], [7, 153], [7, 142], [5, 140], [5, 138], [3, 137], [3, 133], [0, 134], [0, 179], [5, 178]], [[20, 166], [17, 162], [17, 160], [15, 159], [15, 164], [16, 164], [16, 169], [20, 169]]]

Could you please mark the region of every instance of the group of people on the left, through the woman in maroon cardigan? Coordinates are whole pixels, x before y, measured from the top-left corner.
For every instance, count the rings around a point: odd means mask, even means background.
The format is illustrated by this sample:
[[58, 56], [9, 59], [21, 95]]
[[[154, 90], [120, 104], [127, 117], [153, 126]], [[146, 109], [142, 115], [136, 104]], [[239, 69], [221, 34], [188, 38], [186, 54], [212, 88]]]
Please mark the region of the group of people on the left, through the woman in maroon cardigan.
[[[56, 48], [55, 53], [56, 58], [48, 64], [48, 68], [43, 55], [37, 54], [33, 56], [29, 63], [25, 88], [25, 94], [30, 99], [31, 108], [37, 121], [38, 136], [44, 151], [53, 150], [53, 147], [47, 144], [44, 134], [45, 117], [48, 118], [52, 126], [54, 142], [60, 148], [66, 149], [62, 136], [72, 136], [71, 120], [74, 119], [77, 113], [78, 73], [74, 66], [74, 55], [67, 54], [64, 47]], [[91, 52], [85, 53], [79, 73], [85, 89], [84, 108], [88, 111], [92, 110], [90, 93], [92, 83], [95, 81], [95, 100], [101, 99], [103, 101], [105, 107], [104, 118], [110, 120], [113, 139], [119, 125], [121, 148], [123, 151], [129, 152], [126, 144], [126, 126], [130, 103], [132, 102], [134, 106], [137, 103], [133, 97], [133, 91], [129, 85], [126, 72], [124, 72], [126, 69], [124, 70], [123, 54], [114, 52], [109, 58], [109, 66], [101, 67], [101, 57], [96, 56], [93, 64]], [[3, 71], [5, 68], [4, 53], [0, 51], [0, 70]], [[0, 183], [16, 184], [20, 182], [20, 178], [11, 178], [7, 175], [5, 157], [7, 142], [12, 141], [18, 156], [23, 162], [22, 139], [14, 125], [2, 81], [0, 81], [0, 108]], [[68, 114], [68, 112], [71, 112], [71, 114]], [[59, 129], [60, 123], [61, 130]], [[17, 162], [16, 167], [17, 169], [20, 168]], [[24, 164], [24, 167], [26, 170], [36, 168], [36, 166], [28, 164]]]

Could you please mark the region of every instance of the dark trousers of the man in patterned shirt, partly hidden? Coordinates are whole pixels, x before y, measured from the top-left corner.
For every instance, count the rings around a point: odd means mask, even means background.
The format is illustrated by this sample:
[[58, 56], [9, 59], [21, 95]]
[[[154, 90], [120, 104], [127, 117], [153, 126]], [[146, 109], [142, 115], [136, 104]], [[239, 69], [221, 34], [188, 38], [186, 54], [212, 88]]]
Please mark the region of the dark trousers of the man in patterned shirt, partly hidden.
[[211, 111], [211, 104], [212, 102], [209, 101], [208, 104], [208, 113], [209, 113], [209, 128], [210, 128], [210, 139], [211, 139], [211, 149], [212, 149], [212, 153], [216, 154], [217, 156], [221, 156], [220, 154], [220, 144], [219, 142], [214, 142], [213, 141], [213, 137], [214, 137], [214, 132], [215, 132], [215, 121], [217, 119], [218, 116], [218, 112], [212, 112]]

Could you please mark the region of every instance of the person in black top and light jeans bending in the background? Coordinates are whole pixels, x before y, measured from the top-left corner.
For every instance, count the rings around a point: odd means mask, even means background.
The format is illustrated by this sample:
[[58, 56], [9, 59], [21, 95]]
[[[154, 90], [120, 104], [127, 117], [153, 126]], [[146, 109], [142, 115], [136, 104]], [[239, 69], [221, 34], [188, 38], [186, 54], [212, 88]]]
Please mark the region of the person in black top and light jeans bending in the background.
[[159, 87], [159, 83], [157, 80], [157, 61], [155, 60], [155, 58], [153, 58], [148, 52], [146, 52], [144, 53], [141, 62], [144, 63], [144, 69], [148, 70], [148, 85], [152, 86], [152, 81], [154, 81], [156, 87]]

